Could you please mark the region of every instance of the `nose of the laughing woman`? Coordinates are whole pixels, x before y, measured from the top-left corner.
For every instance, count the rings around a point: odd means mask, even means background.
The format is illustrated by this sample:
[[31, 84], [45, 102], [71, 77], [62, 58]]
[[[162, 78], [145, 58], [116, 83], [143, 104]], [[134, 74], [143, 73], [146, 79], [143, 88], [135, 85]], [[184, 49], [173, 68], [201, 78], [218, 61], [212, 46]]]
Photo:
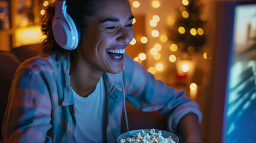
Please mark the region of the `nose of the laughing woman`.
[[132, 38], [133, 38], [133, 30], [124, 28], [119, 30], [119, 35], [116, 38], [116, 41], [122, 42], [128, 45], [128, 43], [131, 42]]

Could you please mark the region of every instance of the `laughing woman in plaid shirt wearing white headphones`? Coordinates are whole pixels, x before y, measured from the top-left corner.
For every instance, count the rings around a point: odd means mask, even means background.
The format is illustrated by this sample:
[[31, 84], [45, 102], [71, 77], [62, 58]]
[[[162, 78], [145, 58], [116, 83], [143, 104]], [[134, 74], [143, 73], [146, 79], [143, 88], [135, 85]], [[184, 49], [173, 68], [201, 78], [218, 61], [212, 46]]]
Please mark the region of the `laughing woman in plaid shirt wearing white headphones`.
[[125, 54], [133, 19], [127, 0], [48, 5], [42, 52], [24, 61], [13, 79], [3, 141], [116, 142], [127, 100], [168, 115], [168, 129], [186, 142], [201, 142], [198, 104]]

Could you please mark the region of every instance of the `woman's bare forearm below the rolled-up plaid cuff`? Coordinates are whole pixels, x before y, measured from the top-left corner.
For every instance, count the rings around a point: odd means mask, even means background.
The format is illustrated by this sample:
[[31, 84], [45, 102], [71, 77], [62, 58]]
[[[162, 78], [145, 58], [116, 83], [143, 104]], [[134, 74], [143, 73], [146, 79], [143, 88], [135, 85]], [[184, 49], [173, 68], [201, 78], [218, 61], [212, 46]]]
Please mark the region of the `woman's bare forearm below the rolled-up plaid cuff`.
[[194, 113], [187, 113], [178, 123], [178, 129], [186, 143], [201, 143], [201, 130], [198, 116]]

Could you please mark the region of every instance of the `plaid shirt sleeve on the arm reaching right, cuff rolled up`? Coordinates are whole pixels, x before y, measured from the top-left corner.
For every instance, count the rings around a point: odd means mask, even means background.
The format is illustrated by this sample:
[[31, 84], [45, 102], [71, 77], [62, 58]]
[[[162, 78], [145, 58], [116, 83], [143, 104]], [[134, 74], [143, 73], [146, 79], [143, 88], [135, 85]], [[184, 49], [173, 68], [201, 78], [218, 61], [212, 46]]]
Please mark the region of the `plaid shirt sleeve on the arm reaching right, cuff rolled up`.
[[202, 113], [196, 102], [187, 98], [184, 91], [177, 91], [156, 80], [128, 55], [125, 55], [123, 74], [127, 100], [138, 110], [159, 110], [160, 114], [167, 114], [171, 132], [177, 131], [178, 122], [187, 113], [195, 113], [201, 122]]

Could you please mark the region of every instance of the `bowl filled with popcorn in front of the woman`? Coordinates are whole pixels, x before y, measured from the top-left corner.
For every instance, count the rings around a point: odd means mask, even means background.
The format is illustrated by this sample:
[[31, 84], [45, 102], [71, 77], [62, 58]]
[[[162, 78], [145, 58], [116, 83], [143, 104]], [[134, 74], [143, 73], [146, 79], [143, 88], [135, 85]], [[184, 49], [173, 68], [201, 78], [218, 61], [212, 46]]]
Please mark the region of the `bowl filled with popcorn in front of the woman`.
[[117, 141], [118, 143], [178, 143], [178, 136], [165, 130], [139, 129], [122, 133]]

